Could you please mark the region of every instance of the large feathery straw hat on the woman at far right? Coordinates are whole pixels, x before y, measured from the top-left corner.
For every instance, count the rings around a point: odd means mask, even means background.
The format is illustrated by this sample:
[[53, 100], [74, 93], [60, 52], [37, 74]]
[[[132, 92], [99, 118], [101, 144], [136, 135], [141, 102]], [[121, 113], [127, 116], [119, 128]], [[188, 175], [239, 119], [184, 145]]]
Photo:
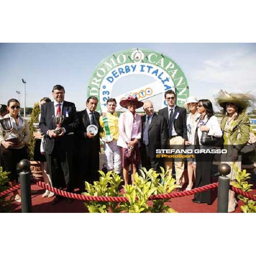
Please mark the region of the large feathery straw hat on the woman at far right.
[[233, 103], [237, 107], [246, 109], [253, 105], [255, 97], [249, 93], [227, 93], [227, 91], [220, 90], [215, 96], [215, 103], [221, 108], [226, 108], [227, 103]]

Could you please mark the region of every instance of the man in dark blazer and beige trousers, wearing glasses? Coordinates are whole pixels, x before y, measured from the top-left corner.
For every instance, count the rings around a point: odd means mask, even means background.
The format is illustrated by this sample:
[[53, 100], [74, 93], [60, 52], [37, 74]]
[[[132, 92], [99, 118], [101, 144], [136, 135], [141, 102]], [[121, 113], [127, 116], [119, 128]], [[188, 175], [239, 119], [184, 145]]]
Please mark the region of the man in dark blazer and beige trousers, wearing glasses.
[[[171, 149], [184, 149], [184, 143], [188, 140], [186, 127], [186, 109], [175, 105], [176, 94], [173, 90], [167, 90], [164, 97], [168, 107], [160, 109], [159, 115], [166, 119], [168, 124], [168, 137]], [[171, 159], [171, 158], [170, 158]], [[165, 161], [166, 171], [172, 175], [172, 161]], [[175, 161], [175, 174], [177, 190], [181, 190], [184, 172], [184, 161]]]

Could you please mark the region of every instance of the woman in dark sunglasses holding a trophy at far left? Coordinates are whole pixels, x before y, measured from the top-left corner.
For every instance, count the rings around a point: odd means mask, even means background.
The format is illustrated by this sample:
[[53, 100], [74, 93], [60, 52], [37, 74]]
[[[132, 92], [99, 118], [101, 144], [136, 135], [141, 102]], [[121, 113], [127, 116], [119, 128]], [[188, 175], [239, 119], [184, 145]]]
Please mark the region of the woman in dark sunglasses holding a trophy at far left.
[[[19, 116], [20, 102], [17, 99], [9, 99], [7, 108], [9, 113], [3, 118], [10, 118], [13, 127], [12, 133], [17, 136], [17, 141], [6, 141], [9, 134], [0, 129], [1, 159], [3, 170], [10, 172], [8, 175], [10, 186], [15, 186], [17, 184], [17, 164], [22, 159], [28, 159], [27, 143], [30, 131], [27, 121]], [[13, 195], [15, 201], [21, 202], [17, 190], [13, 192]]]

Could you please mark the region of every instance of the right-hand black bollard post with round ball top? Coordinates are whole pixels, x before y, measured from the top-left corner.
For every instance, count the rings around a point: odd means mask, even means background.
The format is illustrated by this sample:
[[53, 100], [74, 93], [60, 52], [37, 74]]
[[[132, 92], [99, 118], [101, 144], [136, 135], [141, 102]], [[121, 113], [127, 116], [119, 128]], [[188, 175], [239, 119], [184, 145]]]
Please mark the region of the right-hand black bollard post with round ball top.
[[227, 163], [221, 163], [218, 166], [218, 171], [221, 176], [218, 177], [218, 206], [217, 212], [227, 212], [228, 208], [228, 195], [230, 188], [230, 178], [226, 177], [231, 171], [230, 166]]

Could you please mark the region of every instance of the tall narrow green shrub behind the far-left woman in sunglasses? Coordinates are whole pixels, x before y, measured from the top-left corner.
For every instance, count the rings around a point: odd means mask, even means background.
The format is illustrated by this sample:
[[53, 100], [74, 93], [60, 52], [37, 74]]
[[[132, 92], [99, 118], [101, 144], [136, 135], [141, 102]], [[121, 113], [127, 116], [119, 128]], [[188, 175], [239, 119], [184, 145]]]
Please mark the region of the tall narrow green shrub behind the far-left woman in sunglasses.
[[33, 132], [34, 126], [33, 123], [38, 123], [38, 116], [40, 114], [40, 107], [39, 103], [35, 102], [32, 113], [31, 113], [31, 119], [29, 120], [29, 131], [30, 131], [30, 139], [28, 143], [28, 152], [29, 152], [29, 160], [32, 161], [34, 160], [34, 148], [35, 148], [35, 139], [33, 138]]

